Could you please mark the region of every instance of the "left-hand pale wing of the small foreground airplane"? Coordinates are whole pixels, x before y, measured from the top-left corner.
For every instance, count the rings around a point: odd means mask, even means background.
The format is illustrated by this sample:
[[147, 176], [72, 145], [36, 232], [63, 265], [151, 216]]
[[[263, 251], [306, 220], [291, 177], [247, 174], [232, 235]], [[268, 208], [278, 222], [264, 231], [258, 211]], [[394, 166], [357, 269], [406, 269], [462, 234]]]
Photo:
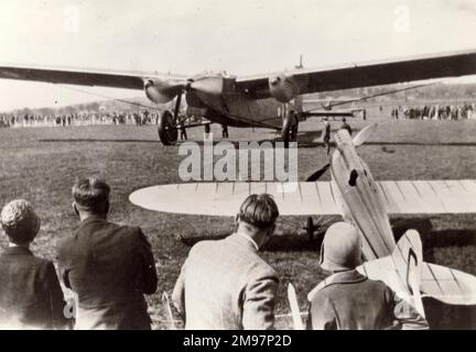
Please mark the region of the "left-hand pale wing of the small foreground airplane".
[[132, 193], [130, 201], [149, 210], [236, 216], [251, 194], [271, 194], [281, 215], [339, 215], [331, 183], [188, 183], [160, 185]]

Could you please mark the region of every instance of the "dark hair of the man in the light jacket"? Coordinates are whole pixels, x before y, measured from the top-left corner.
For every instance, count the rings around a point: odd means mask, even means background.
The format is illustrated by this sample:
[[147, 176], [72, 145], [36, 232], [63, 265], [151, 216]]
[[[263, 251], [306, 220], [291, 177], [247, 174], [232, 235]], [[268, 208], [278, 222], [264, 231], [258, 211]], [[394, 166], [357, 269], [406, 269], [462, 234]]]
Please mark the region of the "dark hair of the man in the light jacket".
[[262, 230], [274, 224], [279, 210], [271, 195], [250, 195], [242, 202], [238, 217], [241, 221]]

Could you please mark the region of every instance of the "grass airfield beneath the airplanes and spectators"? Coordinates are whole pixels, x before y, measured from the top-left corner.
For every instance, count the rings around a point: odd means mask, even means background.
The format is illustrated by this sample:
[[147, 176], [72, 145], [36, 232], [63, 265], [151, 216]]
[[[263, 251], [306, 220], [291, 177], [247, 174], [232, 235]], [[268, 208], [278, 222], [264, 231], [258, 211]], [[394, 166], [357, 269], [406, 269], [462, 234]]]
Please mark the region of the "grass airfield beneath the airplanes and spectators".
[[[349, 119], [350, 120], [350, 119]], [[392, 121], [388, 111], [368, 111], [367, 121], [350, 120], [354, 130], [379, 123], [369, 143], [358, 152], [380, 179], [459, 179], [476, 177], [476, 121]], [[337, 129], [339, 121], [331, 121]], [[304, 180], [328, 162], [321, 144], [322, 123], [300, 125], [299, 178]], [[220, 127], [213, 125], [220, 141]], [[199, 141], [203, 129], [187, 132]], [[356, 131], [354, 132], [356, 133]], [[231, 142], [275, 141], [274, 132], [229, 129]], [[177, 168], [184, 156], [178, 145], [163, 146], [153, 125], [97, 125], [68, 128], [0, 129], [0, 202], [14, 198], [30, 200], [42, 218], [33, 244], [37, 255], [55, 258], [57, 241], [75, 231], [78, 220], [71, 207], [75, 177], [98, 176], [112, 187], [109, 219], [140, 226], [148, 235], [158, 262], [158, 293], [148, 298], [155, 329], [169, 327], [161, 304], [165, 290], [172, 293], [190, 244], [199, 239], [225, 237], [234, 231], [232, 218], [158, 213], [129, 202], [138, 188], [181, 183]], [[322, 180], [328, 180], [326, 174]], [[237, 209], [238, 210], [238, 209]], [[317, 218], [315, 218], [317, 220]], [[338, 218], [321, 218], [324, 231]], [[307, 310], [306, 294], [324, 277], [317, 265], [318, 239], [309, 243], [305, 217], [286, 217], [279, 222], [263, 257], [277, 270], [281, 285], [277, 306], [277, 327], [292, 328], [286, 285], [296, 288], [301, 310]], [[476, 275], [476, 216], [444, 216], [430, 219], [392, 219], [396, 235], [408, 228], [420, 230], [425, 261]], [[0, 245], [6, 245], [1, 235]], [[474, 307], [443, 306], [424, 299], [434, 329], [476, 328]]]

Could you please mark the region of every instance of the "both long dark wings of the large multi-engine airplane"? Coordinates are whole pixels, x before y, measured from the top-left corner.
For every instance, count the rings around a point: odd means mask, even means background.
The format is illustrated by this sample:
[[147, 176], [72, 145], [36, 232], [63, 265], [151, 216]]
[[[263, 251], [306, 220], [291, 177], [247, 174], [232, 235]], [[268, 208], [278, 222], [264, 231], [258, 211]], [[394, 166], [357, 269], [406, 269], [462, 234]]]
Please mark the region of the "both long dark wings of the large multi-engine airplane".
[[[270, 97], [269, 78], [283, 73], [237, 77], [238, 89], [257, 98]], [[476, 74], [476, 50], [436, 55], [407, 57], [363, 64], [347, 64], [315, 69], [293, 69], [284, 73], [299, 86], [301, 95], [356, 87], [388, 85], [440, 77], [457, 77]], [[53, 84], [102, 86], [143, 89], [147, 78], [160, 78], [183, 82], [187, 76], [163, 75], [143, 72], [118, 72], [69, 67], [1, 65], [0, 78], [36, 80]]]

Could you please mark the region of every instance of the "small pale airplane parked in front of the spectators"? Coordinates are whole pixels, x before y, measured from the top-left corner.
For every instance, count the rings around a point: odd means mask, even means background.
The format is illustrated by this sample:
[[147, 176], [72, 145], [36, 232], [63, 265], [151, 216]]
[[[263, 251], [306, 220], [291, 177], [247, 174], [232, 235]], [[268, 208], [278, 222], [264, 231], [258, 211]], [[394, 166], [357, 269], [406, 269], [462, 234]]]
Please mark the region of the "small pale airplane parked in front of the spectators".
[[[378, 260], [377, 268], [364, 265], [364, 272], [374, 278], [380, 275], [381, 279], [393, 285], [391, 287], [396, 292], [401, 292], [402, 287], [408, 287], [408, 279], [402, 282], [402, 265], [392, 258], [392, 253], [399, 250], [399, 246], [389, 215], [476, 213], [476, 180], [375, 182], [356, 147], [364, 144], [376, 129], [377, 124], [369, 125], [354, 140], [346, 130], [339, 130], [334, 138], [336, 150], [331, 163], [311, 175], [306, 182], [288, 185], [161, 185], [136, 190], [129, 199], [134, 205], [155, 211], [235, 216], [246, 197], [267, 193], [273, 195], [283, 216], [340, 215], [344, 221], [353, 223], [359, 230], [366, 260]], [[332, 182], [317, 182], [327, 169], [331, 169]], [[476, 305], [476, 277], [452, 268], [421, 263], [418, 253], [414, 255], [413, 261], [421, 265], [421, 290], [424, 295], [446, 304]], [[397, 276], [391, 273], [397, 273]], [[389, 275], [398, 279], [388, 279]]]

